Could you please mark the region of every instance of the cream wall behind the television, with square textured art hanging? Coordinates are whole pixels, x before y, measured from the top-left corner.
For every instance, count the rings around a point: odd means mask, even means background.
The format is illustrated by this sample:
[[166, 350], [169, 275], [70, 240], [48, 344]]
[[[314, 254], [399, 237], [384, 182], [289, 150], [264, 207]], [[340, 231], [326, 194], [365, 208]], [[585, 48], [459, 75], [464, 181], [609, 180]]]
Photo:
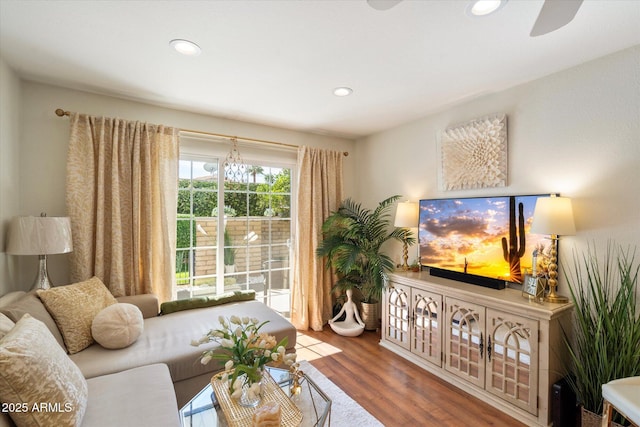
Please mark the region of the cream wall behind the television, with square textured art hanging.
[[[496, 112], [508, 116], [508, 186], [441, 191], [440, 132]], [[602, 248], [608, 239], [638, 246], [640, 259], [640, 46], [372, 135], [356, 150], [365, 205], [392, 194], [417, 201], [559, 192], [573, 199], [578, 229], [563, 239], [561, 264], [572, 248]], [[399, 261], [399, 246], [389, 249]]]

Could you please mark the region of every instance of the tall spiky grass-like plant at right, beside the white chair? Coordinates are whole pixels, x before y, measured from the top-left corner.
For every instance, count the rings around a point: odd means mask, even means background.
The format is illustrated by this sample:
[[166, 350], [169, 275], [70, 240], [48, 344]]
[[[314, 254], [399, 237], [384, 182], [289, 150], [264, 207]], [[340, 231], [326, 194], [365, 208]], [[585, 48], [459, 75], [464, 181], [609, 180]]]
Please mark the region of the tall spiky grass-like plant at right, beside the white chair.
[[565, 334], [573, 376], [569, 383], [582, 406], [582, 425], [600, 426], [602, 384], [640, 375], [640, 312], [635, 250], [609, 244], [603, 259], [595, 249], [574, 255], [565, 275], [574, 303], [574, 334]]

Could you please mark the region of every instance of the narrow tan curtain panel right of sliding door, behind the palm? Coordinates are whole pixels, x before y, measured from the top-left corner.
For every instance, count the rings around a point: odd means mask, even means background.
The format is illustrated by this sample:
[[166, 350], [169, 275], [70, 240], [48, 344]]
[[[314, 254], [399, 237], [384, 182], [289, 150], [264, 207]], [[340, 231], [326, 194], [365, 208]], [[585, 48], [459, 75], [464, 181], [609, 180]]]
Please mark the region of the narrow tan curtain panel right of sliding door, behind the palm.
[[298, 149], [296, 251], [291, 289], [291, 322], [301, 330], [321, 331], [331, 319], [334, 277], [316, 257], [322, 223], [342, 201], [344, 155], [309, 147]]

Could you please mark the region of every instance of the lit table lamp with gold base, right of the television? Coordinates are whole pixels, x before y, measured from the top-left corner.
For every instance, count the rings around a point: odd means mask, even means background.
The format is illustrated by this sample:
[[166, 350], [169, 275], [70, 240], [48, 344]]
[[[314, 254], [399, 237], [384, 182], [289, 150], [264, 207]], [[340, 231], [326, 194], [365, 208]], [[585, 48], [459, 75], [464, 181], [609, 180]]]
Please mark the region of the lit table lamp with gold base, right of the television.
[[531, 233], [548, 234], [551, 237], [551, 259], [549, 261], [549, 294], [546, 302], [564, 303], [567, 297], [556, 294], [558, 286], [558, 239], [559, 236], [573, 236], [576, 226], [573, 222], [571, 199], [567, 197], [539, 197], [533, 211]]

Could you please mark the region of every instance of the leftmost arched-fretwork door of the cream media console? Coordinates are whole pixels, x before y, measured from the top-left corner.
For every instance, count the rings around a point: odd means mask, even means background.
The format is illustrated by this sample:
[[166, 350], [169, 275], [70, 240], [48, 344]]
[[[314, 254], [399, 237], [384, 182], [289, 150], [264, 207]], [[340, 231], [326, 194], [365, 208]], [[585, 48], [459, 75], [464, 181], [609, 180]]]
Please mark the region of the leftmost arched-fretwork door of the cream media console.
[[409, 350], [411, 287], [391, 282], [386, 290], [385, 338]]

